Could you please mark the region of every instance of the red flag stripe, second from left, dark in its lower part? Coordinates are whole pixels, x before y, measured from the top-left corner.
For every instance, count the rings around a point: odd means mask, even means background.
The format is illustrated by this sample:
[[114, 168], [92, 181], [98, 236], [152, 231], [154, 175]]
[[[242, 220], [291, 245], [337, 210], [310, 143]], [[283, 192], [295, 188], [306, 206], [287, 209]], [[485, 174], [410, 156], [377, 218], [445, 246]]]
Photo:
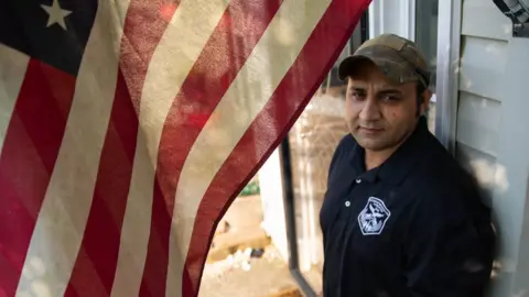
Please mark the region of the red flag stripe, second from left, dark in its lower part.
[[[66, 297], [110, 295], [127, 208], [138, 135], [138, 113], [149, 62], [177, 3], [133, 0], [121, 40], [120, 69], [94, 200]], [[145, 25], [149, 23], [149, 25]], [[130, 92], [130, 94], [129, 94]]]

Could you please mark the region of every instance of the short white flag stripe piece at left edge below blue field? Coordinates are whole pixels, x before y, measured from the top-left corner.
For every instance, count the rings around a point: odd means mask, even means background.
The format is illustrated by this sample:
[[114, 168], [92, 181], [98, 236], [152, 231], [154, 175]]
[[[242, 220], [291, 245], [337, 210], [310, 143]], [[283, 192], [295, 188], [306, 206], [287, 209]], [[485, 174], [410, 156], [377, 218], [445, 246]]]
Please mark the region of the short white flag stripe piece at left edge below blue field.
[[0, 44], [0, 153], [30, 57]]

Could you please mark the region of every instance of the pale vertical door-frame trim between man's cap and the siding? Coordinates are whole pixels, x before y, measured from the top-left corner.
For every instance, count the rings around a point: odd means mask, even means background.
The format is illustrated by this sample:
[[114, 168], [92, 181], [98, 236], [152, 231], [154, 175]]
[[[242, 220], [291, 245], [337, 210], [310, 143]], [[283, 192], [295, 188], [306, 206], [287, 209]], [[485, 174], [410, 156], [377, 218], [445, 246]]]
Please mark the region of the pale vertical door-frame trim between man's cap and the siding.
[[435, 136], [455, 153], [462, 0], [439, 1]]

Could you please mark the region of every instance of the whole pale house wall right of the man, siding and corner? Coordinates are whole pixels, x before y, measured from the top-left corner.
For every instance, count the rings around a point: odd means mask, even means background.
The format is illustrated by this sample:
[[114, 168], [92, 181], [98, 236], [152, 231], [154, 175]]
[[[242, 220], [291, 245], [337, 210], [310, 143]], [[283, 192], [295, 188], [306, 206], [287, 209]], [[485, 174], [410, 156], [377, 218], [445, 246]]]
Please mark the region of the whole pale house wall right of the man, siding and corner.
[[500, 268], [490, 296], [528, 296], [529, 38], [512, 37], [493, 1], [463, 0], [461, 15], [455, 155], [495, 212]]

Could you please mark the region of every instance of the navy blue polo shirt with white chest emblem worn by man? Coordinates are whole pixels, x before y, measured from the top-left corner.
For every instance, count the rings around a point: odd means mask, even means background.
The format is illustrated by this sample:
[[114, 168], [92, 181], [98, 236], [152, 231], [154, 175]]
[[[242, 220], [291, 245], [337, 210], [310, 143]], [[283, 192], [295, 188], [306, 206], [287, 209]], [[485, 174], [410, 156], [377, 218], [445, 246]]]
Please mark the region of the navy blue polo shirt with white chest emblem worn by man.
[[493, 262], [489, 209], [421, 118], [379, 167], [346, 135], [320, 213], [324, 297], [483, 296]]

